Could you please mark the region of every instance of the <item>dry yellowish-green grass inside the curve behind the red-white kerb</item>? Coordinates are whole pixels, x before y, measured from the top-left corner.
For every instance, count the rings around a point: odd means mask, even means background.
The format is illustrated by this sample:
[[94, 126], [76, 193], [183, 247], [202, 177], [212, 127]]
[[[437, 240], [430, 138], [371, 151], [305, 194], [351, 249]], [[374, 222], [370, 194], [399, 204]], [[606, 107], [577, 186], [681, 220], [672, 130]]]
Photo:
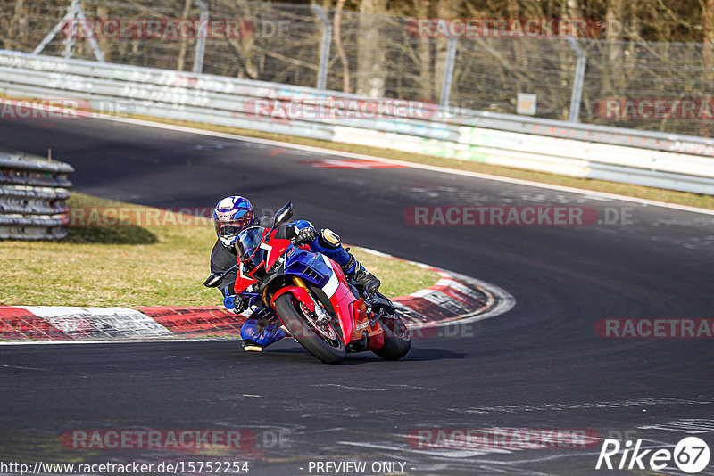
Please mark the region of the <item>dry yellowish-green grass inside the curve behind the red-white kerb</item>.
[[[73, 193], [68, 204], [145, 209], [81, 193]], [[203, 287], [216, 236], [210, 220], [198, 221], [196, 226], [130, 226], [128, 219], [123, 226], [70, 227], [62, 242], [0, 242], [0, 305], [220, 305], [219, 291]], [[387, 296], [409, 294], [438, 279], [409, 263], [354, 251], [382, 280]]]

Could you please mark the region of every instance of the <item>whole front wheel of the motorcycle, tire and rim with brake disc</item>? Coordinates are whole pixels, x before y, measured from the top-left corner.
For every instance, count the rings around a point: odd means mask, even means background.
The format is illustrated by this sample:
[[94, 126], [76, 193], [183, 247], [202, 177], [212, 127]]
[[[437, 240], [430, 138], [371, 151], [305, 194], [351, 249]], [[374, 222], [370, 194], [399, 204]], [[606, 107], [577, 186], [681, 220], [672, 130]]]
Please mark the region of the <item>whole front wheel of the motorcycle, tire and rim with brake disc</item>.
[[345, 344], [331, 323], [311, 318], [310, 311], [290, 293], [275, 300], [275, 308], [280, 320], [303, 348], [325, 364], [342, 362], [346, 353]]

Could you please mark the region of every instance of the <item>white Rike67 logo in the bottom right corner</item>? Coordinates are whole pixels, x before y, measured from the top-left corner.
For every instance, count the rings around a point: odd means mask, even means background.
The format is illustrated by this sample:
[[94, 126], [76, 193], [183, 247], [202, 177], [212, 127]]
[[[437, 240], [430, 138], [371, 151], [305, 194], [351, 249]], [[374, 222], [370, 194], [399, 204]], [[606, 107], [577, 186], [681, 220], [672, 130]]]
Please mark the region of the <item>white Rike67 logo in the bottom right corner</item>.
[[[687, 437], [681, 439], [674, 451], [668, 448], [650, 448], [642, 449], [642, 439], [637, 439], [635, 447], [632, 447], [632, 440], [627, 440], [624, 445], [624, 450], [620, 454], [620, 442], [617, 439], [602, 440], [602, 449], [600, 456], [597, 458], [595, 469], [614, 469], [614, 459], [619, 470], [644, 470], [650, 468], [652, 470], [663, 470], [668, 466], [673, 468], [673, 464], [677, 465], [683, 472], [693, 474], [701, 472], [707, 467], [710, 461], [709, 446], [703, 439], [697, 437]], [[618, 464], [619, 458], [619, 464]]]

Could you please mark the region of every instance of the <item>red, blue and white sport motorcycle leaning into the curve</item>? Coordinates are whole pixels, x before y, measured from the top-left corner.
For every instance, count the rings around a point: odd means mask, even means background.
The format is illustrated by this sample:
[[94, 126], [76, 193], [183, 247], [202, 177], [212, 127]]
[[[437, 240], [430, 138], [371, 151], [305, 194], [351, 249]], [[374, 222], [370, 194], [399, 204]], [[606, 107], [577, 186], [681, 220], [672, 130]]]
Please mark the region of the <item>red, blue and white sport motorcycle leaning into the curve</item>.
[[237, 264], [203, 283], [218, 286], [237, 269], [234, 290], [248, 298], [255, 316], [283, 324], [304, 349], [327, 364], [347, 352], [372, 351], [397, 360], [411, 348], [403, 316], [380, 292], [368, 293], [327, 256], [279, 238], [278, 226], [293, 216], [293, 204], [278, 210], [271, 228], [252, 226], [236, 242]]

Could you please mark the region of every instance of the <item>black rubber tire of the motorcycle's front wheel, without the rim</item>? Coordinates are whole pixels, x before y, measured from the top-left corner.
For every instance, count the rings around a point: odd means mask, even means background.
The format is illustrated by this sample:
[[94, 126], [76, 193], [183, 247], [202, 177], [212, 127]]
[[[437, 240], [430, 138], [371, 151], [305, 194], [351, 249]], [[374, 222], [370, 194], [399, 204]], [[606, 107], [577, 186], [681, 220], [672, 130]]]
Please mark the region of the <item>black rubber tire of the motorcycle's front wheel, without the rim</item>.
[[[316, 306], [319, 305], [316, 304]], [[323, 340], [307, 323], [300, 310], [300, 303], [295, 300], [295, 296], [290, 293], [283, 294], [275, 300], [275, 308], [278, 311], [280, 320], [303, 348], [325, 364], [339, 364], [342, 362], [345, 358], [346, 350], [339, 332], [336, 332], [337, 339], [335, 341], [330, 343]]]

